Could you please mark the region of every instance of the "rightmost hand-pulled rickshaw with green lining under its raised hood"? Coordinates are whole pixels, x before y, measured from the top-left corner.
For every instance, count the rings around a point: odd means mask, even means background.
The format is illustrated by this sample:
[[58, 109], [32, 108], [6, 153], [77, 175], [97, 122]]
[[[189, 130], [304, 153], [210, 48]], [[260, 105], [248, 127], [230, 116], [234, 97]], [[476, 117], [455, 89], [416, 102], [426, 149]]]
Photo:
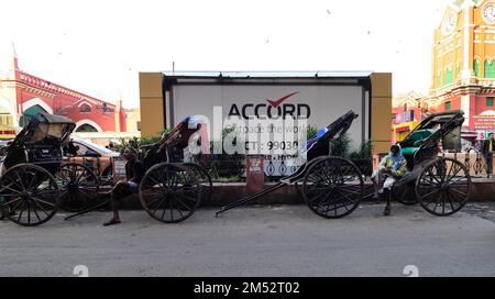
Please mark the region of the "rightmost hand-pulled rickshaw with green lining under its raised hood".
[[435, 215], [451, 215], [470, 199], [471, 176], [462, 162], [439, 156], [461, 150], [462, 111], [431, 114], [398, 144], [408, 173], [392, 188], [393, 198], [404, 204], [420, 203]]

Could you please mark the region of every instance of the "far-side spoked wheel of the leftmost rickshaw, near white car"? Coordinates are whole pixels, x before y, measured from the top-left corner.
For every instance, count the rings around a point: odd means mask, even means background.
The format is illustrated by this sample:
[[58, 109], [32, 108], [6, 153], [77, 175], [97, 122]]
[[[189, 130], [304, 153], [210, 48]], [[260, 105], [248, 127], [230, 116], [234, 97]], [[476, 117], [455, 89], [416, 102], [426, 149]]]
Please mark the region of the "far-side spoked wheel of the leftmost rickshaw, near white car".
[[55, 179], [61, 188], [62, 209], [80, 212], [95, 204], [100, 182], [89, 167], [77, 163], [64, 164]]

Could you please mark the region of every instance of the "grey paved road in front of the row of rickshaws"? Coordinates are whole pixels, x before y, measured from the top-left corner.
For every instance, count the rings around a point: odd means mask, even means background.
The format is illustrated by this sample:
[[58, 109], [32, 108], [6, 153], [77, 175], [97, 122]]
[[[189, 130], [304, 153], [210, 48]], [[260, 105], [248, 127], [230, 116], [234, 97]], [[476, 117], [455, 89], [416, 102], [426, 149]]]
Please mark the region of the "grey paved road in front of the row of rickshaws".
[[341, 220], [305, 206], [250, 207], [215, 218], [201, 209], [182, 224], [127, 211], [123, 224], [94, 212], [34, 229], [0, 221], [0, 276], [495, 276], [492, 206], [450, 218], [420, 207], [364, 204]]

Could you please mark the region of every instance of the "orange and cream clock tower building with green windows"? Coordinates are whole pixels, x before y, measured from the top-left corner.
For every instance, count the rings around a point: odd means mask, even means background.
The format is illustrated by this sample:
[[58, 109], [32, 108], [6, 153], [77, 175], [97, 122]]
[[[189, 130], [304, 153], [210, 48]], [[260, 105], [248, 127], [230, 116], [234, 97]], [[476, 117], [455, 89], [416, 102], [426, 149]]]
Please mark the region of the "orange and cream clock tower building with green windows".
[[462, 109], [463, 137], [495, 131], [495, 0], [454, 1], [435, 30], [428, 112]]

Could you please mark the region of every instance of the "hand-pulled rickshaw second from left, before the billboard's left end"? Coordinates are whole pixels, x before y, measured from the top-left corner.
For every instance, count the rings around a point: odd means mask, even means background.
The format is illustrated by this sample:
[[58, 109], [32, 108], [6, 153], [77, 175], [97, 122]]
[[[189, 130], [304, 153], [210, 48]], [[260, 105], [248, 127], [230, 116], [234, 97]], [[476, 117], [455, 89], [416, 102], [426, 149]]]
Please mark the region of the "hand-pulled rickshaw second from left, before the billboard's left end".
[[[184, 162], [182, 152], [189, 146], [191, 135], [199, 133], [201, 122], [188, 117], [155, 144], [143, 146], [146, 169], [139, 187], [144, 210], [164, 223], [182, 222], [194, 214], [202, 200], [211, 196], [211, 178], [198, 164]], [[109, 200], [84, 209], [66, 220], [102, 208]]]

